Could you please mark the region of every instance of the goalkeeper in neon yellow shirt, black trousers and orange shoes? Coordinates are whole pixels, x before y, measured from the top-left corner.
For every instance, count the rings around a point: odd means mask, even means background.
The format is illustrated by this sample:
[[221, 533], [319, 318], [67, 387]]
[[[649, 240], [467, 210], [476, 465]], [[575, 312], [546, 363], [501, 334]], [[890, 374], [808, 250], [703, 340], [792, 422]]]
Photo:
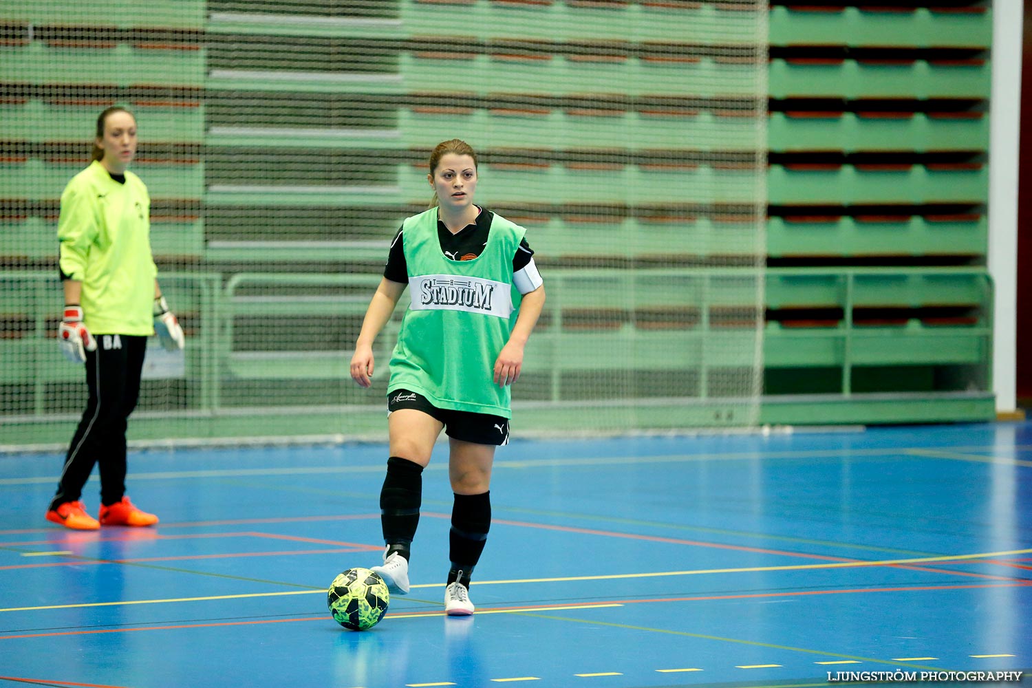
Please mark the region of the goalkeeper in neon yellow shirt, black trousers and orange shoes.
[[[126, 426], [139, 396], [147, 338], [157, 332], [169, 351], [183, 329], [168, 310], [151, 254], [151, 198], [128, 170], [136, 155], [136, 119], [122, 107], [97, 118], [93, 162], [61, 195], [58, 220], [64, 313], [61, 351], [85, 364], [89, 398], [68, 447], [46, 520], [76, 530], [103, 525], [150, 526], [125, 491]], [[82, 500], [100, 470], [99, 521]]]

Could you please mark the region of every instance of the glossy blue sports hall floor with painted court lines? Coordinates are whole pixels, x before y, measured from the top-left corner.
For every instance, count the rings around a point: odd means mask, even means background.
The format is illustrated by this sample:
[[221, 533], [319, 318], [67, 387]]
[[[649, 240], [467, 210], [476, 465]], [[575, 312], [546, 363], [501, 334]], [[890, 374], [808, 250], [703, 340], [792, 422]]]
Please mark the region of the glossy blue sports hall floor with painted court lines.
[[[325, 589], [380, 561], [383, 446], [134, 453], [129, 494], [161, 524], [98, 532], [43, 520], [61, 456], [0, 454], [0, 688], [1032, 667], [1032, 424], [516, 441], [496, 455], [472, 618], [442, 612], [446, 449], [424, 473], [412, 593], [363, 632], [330, 618]], [[93, 515], [97, 493], [95, 473]]]

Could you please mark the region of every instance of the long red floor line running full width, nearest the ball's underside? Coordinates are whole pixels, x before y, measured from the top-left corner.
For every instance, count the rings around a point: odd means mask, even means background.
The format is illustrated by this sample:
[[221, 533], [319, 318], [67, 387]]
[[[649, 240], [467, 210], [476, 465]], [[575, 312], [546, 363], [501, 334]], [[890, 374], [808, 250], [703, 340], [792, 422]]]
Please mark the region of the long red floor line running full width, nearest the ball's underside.
[[[929, 591], [929, 590], [980, 590], [986, 588], [1025, 588], [1032, 587], [1032, 582], [1029, 583], [1002, 583], [998, 585], [932, 585], [932, 586], [922, 586], [914, 588], [900, 587], [900, 588], [858, 588], [853, 590], [805, 590], [799, 592], [761, 592], [751, 594], [741, 594], [741, 595], [704, 595], [696, 597], [664, 597], [664, 598], [653, 598], [653, 599], [613, 599], [613, 600], [596, 600], [588, 604], [579, 604], [581, 609], [590, 609], [592, 607], [605, 607], [607, 604], [643, 604], [650, 602], [687, 602], [687, 601], [713, 601], [721, 599], [748, 599], [748, 598], [762, 598], [762, 597], [794, 597], [802, 595], [843, 595], [843, 594], [858, 594], [858, 593], [869, 593], [869, 592], [914, 592], [914, 591]], [[491, 607], [482, 608], [483, 612], [519, 612], [520, 610], [535, 610], [541, 611], [543, 608], [568, 608], [575, 602], [568, 601], [561, 603], [553, 604], [521, 604], [519, 607]], [[412, 616], [441, 616], [443, 615], [443, 610], [431, 610], [427, 612], [405, 612], [404, 615], [407, 617]], [[400, 612], [398, 614], [401, 614]], [[146, 626], [141, 628], [106, 628], [99, 630], [66, 630], [57, 631], [52, 633], [25, 633], [22, 635], [0, 635], [0, 641], [17, 641], [25, 640], [31, 637], [55, 637], [58, 635], [95, 635], [99, 633], [132, 633], [143, 630], [181, 630], [185, 628], [217, 628], [223, 626], [255, 626], [260, 624], [269, 623], [296, 623], [300, 621], [323, 621], [325, 622], [328, 616], [318, 616], [318, 617], [302, 617], [299, 619], [262, 619], [258, 621], [223, 621], [220, 623], [197, 623], [197, 624], [180, 624], [175, 626]], [[385, 619], [390, 619], [388, 614]], [[2, 678], [2, 677], [0, 677]], [[102, 686], [101, 688], [108, 688]]]

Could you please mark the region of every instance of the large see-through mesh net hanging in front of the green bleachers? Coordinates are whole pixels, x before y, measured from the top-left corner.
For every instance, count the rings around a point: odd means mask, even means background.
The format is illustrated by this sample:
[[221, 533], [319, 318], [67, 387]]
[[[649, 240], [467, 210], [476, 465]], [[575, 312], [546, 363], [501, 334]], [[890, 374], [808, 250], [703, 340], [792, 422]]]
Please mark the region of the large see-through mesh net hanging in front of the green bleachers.
[[0, 444], [62, 443], [56, 226], [97, 114], [132, 170], [188, 345], [149, 347], [130, 435], [382, 436], [351, 350], [440, 141], [527, 228], [548, 302], [514, 432], [757, 417], [767, 5], [687, 0], [98, 0], [0, 6]]

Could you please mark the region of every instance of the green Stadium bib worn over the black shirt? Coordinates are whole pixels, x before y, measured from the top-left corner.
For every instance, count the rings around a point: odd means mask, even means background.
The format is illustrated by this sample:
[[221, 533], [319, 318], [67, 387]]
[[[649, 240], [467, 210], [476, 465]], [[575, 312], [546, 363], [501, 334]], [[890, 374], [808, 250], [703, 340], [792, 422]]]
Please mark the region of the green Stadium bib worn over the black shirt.
[[388, 394], [407, 389], [438, 408], [512, 418], [511, 390], [494, 383], [520, 294], [513, 256], [524, 229], [495, 215], [473, 260], [449, 260], [438, 238], [438, 208], [405, 221], [401, 240], [411, 302], [390, 361]]

